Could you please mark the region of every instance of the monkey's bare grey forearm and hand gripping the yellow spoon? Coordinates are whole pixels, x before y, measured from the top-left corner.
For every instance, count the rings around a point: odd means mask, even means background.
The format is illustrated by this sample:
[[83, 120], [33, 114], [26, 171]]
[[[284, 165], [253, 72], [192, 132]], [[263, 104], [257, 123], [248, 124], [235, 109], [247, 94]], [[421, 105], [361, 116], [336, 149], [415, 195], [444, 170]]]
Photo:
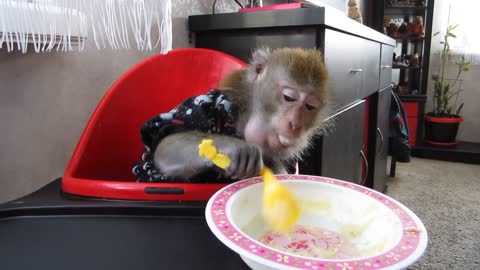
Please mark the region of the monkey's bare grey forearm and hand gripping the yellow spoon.
[[[231, 159], [230, 166], [222, 170], [198, 155], [198, 145], [203, 139], [213, 139], [218, 151]], [[262, 166], [258, 147], [226, 135], [201, 132], [182, 132], [165, 137], [154, 154], [155, 166], [165, 175], [191, 179], [207, 170], [215, 169], [234, 179], [258, 175]]]

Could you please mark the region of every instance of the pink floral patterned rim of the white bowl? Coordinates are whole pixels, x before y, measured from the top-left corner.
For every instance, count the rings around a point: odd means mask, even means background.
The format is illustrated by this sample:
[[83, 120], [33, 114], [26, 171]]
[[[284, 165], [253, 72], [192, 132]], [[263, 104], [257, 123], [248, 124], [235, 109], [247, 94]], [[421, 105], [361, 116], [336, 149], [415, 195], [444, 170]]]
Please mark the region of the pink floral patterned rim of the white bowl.
[[422, 232], [421, 228], [423, 227], [423, 225], [421, 224], [421, 222], [418, 221], [418, 223], [420, 223], [419, 225], [415, 221], [416, 219], [414, 219], [416, 218], [416, 216], [409, 210], [406, 210], [405, 206], [379, 192], [350, 182], [318, 176], [278, 175], [277, 179], [318, 181], [362, 192], [363, 194], [375, 200], [378, 200], [379, 202], [390, 208], [399, 217], [404, 233], [401, 236], [401, 239], [397, 243], [397, 245], [392, 247], [390, 250], [379, 254], [378, 256], [360, 259], [326, 260], [318, 258], [307, 258], [269, 248], [268, 246], [263, 245], [260, 242], [252, 240], [246, 234], [237, 230], [228, 220], [226, 215], [226, 206], [228, 200], [232, 197], [233, 194], [235, 194], [242, 188], [257, 184], [262, 181], [260, 177], [256, 177], [231, 184], [226, 188], [222, 189], [221, 191], [217, 192], [210, 199], [212, 201], [212, 205], [209, 214], [211, 215], [214, 226], [216, 227], [216, 229], [218, 229], [218, 232], [223, 235], [224, 238], [229, 239], [229, 241], [233, 243], [235, 247], [241, 248], [242, 250], [246, 251], [247, 253], [253, 254], [254, 256], [259, 256], [267, 261], [271, 261], [281, 265], [295, 267], [299, 269], [318, 270], [369, 270], [388, 268], [396, 264], [404, 265], [407, 258], [414, 255], [415, 252], [418, 252], [418, 249], [422, 249], [422, 253], [423, 249], [425, 249], [425, 246], [420, 246], [426, 245], [426, 243], [421, 243], [420, 239], [420, 233], [426, 233], [425, 231]]

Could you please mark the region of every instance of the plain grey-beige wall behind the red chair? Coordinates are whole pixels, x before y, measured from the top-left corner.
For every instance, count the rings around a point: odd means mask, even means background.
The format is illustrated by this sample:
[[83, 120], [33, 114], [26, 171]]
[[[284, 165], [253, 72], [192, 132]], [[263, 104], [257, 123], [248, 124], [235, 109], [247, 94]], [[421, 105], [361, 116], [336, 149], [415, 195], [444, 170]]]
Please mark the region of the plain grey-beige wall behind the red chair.
[[[210, 13], [213, 0], [172, 2], [173, 47], [190, 47], [187, 16]], [[237, 9], [233, 1], [221, 0], [216, 10]], [[154, 53], [98, 51], [91, 43], [83, 52], [0, 50], [0, 203], [60, 177], [105, 91]]]

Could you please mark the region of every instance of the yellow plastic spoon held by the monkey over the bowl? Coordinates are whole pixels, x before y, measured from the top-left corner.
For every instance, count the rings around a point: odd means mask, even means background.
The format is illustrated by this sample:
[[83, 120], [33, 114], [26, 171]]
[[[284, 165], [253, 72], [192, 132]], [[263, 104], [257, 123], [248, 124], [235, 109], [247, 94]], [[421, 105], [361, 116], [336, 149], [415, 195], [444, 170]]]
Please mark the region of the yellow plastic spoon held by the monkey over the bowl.
[[[230, 158], [218, 153], [213, 140], [204, 139], [198, 146], [198, 155], [222, 169], [230, 165]], [[300, 204], [288, 187], [277, 181], [269, 168], [263, 167], [260, 175], [264, 181], [263, 216], [274, 232], [285, 233], [300, 218]]]

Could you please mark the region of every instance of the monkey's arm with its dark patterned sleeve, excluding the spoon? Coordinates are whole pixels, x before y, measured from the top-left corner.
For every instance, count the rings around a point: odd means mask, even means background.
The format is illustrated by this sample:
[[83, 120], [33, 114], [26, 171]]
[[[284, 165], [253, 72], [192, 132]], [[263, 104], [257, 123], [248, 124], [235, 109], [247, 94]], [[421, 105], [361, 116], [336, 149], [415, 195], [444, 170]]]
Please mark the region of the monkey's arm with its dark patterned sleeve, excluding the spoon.
[[[144, 123], [140, 132], [142, 160], [132, 168], [138, 181], [189, 181], [211, 170], [233, 179], [258, 175], [260, 148], [234, 137], [241, 133], [236, 130], [238, 100], [232, 102], [224, 93], [212, 90], [188, 98], [169, 113]], [[198, 145], [208, 138], [214, 139], [219, 151], [230, 157], [227, 169], [217, 168], [198, 156]]]

